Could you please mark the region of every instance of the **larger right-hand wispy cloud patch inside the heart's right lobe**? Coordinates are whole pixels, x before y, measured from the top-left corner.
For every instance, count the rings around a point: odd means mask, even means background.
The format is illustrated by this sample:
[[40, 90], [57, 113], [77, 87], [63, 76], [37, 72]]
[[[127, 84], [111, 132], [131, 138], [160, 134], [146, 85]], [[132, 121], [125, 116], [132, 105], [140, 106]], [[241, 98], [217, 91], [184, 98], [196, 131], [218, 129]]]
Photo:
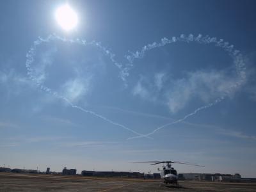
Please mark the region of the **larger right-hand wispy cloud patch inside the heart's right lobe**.
[[234, 92], [231, 90], [234, 82], [235, 79], [223, 71], [188, 72], [186, 77], [172, 81], [173, 86], [166, 93], [168, 107], [176, 113], [193, 98], [208, 103], [218, 97], [230, 96]]

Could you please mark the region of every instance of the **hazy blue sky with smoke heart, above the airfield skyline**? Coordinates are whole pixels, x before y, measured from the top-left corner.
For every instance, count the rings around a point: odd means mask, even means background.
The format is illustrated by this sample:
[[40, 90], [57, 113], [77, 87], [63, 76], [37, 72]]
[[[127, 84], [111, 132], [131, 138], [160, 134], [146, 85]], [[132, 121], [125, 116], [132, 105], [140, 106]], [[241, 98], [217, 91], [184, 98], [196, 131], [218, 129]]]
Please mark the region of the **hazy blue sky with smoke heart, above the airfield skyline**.
[[0, 7], [0, 166], [256, 177], [255, 1]]

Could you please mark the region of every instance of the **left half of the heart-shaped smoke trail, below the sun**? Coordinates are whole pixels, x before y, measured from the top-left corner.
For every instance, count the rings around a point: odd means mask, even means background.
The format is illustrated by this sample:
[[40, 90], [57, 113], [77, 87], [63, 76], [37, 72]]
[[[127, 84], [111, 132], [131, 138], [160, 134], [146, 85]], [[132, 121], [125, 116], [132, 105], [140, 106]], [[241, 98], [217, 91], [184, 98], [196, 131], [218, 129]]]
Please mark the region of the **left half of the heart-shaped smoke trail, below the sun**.
[[[37, 76], [35, 70], [33, 70], [33, 63], [35, 62], [34, 58], [36, 55], [36, 49], [38, 48], [38, 46], [44, 44], [44, 43], [49, 43], [52, 41], [61, 41], [61, 42], [67, 42], [70, 44], [79, 44], [79, 45], [83, 45], [83, 46], [88, 46], [88, 45], [93, 45], [95, 47], [98, 47], [100, 50], [102, 50], [102, 52], [104, 52], [104, 54], [106, 56], [108, 56], [110, 58], [110, 60], [114, 63], [114, 65], [116, 67], [118, 67], [120, 69], [120, 71], [122, 72], [121, 68], [122, 65], [120, 65], [120, 63], [117, 63], [114, 59], [115, 55], [113, 53], [111, 53], [108, 49], [106, 49], [106, 47], [103, 47], [99, 42], [86, 42], [86, 40], [81, 40], [79, 38], [77, 39], [67, 39], [67, 38], [61, 38], [60, 36], [57, 35], [49, 35], [47, 36], [47, 38], [38, 38], [38, 40], [35, 40], [35, 42], [33, 43], [33, 45], [31, 46], [31, 48], [29, 49], [27, 55], [26, 55], [26, 68], [28, 70], [28, 76], [29, 78], [36, 83], [36, 85], [45, 93], [49, 93], [51, 95], [54, 95], [54, 97], [57, 97], [58, 99], [61, 100], [65, 100], [65, 102], [67, 102], [69, 104], [69, 106], [71, 106], [72, 108], [76, 108], [79, 109], [85, 113], [90, 113], [91, 115], [97, 116], [98, 118], [101, 118], [102, 120], [105, 120], [106, 122], [109, 122], [110, 124], [116, 125], [118, 127], [122, 127], [123, 129], [130, 131], [138, 136], [141, 137], [146, 137], [146, 138], [150, 138], [149, 136], [143, 136], [143, 134], [136, 132], [132, 129], [130, 129], [129, 127], [126, 127], [125, 125], [119, 124], [117, 122], [114, 122], [113, 120], [110, 120], [109, 118], [106, 118], [105, 116], [99, 115], [98, 113], [95, 113], [94, 111], [90, 111], [88, 109], [84, 109], [81, 106], [77, 106], [75, 104], [73, 104], [69, 99], [67, 99], [67, 97], [64, 97], [63, 95], [60, 95], [60, 93], [52, 90], [51, 88], [45, 86], [44, 83], [42, 83], [41, 78]], [[120, 77], [121, 79], [125, 79], [125, 74], [120, 73]]]

